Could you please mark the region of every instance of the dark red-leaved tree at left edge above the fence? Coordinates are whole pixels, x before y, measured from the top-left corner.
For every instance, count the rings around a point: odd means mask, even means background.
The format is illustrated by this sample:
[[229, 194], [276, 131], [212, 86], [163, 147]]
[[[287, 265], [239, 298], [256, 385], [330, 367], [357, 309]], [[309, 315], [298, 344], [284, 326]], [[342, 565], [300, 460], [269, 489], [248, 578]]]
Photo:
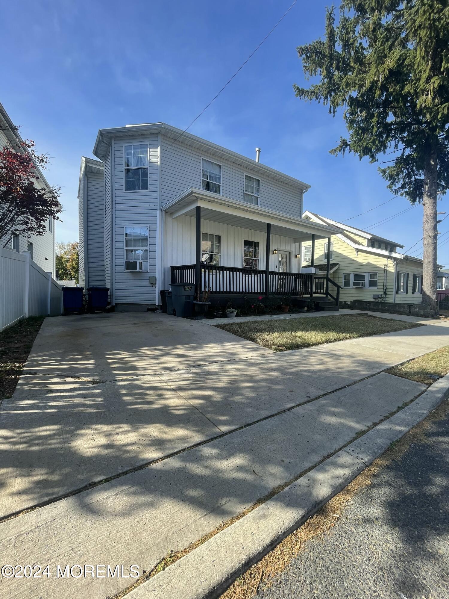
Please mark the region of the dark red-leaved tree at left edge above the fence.
[[59, 220], [60, 187], [45, 186], [37, 167], [45, 169], [48, 156], [35, 152], [34, 141], [22, 143], [24, 152], [9, 144], [0, 150], [0, 239], [6, 245], [14, 234], [44, 235], [49, 219]]

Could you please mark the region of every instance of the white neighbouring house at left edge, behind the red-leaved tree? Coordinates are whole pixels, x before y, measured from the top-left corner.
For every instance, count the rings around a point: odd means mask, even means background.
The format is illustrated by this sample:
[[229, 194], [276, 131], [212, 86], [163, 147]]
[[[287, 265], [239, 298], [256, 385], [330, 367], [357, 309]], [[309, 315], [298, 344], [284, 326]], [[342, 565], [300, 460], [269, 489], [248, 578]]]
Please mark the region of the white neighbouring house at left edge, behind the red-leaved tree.
[[[28, 152], [22, 144], [22, 137], [20, 137], [7, 111], [0, 104], [0, 147], [4, 148], [10, 145], [16, 152]], [[36, 171], [39, 179], [35, 182], [35, 185], [50, 190], [50, 185], [45, 180], [40, 168], [36, 167]], [[48, 220], [45, 235], [31, 235], [31, 237], [16, 234], [13, 228], [11, 235], [7, 235], [0, 242], [2, 247], [15, 252], [29, 252], [31, 259], [46, 273], [53, 273], [54, 277], [56, 274], [54, 225], [53, 219]]]

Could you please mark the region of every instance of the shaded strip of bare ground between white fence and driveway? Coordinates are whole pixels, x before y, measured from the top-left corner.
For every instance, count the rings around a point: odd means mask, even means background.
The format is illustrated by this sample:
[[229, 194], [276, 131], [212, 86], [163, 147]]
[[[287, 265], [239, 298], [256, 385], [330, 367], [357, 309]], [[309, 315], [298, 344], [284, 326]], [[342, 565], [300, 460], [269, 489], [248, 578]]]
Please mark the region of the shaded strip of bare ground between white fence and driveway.
[[0, 403], [11, 397], [44, 319], [20, 320], [0, 333]]

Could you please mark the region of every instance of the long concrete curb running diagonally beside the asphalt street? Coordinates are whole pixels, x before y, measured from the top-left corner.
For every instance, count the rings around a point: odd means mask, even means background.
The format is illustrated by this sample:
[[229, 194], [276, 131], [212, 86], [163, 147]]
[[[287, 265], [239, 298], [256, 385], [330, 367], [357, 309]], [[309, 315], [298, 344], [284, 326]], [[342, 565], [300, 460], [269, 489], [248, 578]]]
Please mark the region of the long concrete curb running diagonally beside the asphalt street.
[[313, 468], [229, 528], [129, 593], [214, 599], [449, 397], [449, 374], [417, 400]]

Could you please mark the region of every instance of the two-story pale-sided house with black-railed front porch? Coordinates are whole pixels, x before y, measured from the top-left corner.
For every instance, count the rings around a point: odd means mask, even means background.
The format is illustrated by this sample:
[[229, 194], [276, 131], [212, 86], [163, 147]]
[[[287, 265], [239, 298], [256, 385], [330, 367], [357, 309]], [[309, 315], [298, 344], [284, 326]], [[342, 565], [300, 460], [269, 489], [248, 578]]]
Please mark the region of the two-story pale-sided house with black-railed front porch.
[[[99, 162], [81, 164], [80, 264], [84, 281], [110, 288], [111, 304], [159, 304], [172, 282], [207, 289], [211, 299], [338, 299], [328, 273], [313, 282], [301, 273], [301, 245], [340, 229], [303, 219], [310, 186], [261, 164], [259, 153], [250, 159], [149, 123], [100, 129], [93, 154]], [[103, 168], [104, 220], [89, 191], [98, 194], [89, 177]]]

